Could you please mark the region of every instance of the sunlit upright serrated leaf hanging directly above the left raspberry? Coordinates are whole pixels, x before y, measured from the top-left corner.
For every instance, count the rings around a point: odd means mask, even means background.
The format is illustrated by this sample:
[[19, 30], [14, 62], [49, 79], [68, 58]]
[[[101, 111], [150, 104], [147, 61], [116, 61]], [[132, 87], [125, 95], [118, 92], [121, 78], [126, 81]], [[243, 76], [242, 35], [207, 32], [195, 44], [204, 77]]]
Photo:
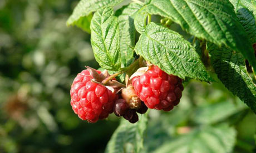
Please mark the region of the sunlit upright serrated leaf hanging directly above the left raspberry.
[[91, 44], [95, 59], [102, 68], [120, 69], [119, 24], [111, 7], [100, 9], [93, 15]]

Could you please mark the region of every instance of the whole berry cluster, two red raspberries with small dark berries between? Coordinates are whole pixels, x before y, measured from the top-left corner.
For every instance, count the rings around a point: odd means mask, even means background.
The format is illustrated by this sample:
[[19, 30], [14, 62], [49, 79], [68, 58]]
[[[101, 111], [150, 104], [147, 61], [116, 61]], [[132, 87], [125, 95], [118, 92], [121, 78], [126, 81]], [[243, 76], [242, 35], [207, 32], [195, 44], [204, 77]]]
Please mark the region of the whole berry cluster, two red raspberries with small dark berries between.
[[[101, 75], [99, 70], [94, 70]], [[130, 123], [139, 120], [137, 113], [144, 114], [147, 109], [170, 111], [178, 105], [182, 96], [182, 80], [168, 75], [153, 65], [142, 75], [130, 79], [126, 88], [112, 88], [96, 80], [89, 69], [77, 74], [73, 80], [70, 95], [73, 111], [82, 120], [96, 123], [109, 114], [123, 116]], [[120, 94], [119, 94], [120, 93]]]

